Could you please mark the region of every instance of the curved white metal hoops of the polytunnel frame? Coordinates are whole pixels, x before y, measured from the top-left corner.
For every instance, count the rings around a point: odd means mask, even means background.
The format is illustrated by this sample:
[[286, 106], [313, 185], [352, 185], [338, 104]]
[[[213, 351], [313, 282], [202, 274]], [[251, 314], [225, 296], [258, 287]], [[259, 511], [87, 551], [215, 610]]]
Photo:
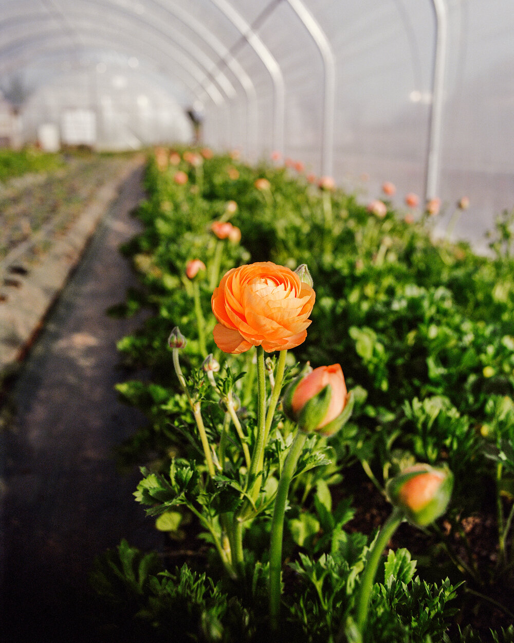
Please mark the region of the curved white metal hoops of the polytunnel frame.
[[[215, 6], [218, 11], [220, 11], [226, 19], [235, 26], [236, 30], [240, 33], [240, 39], [233, 45], [231, 48], [225, 49], [222, 42], [219, 41], [215, 35], [209, 30], [201, 21], [197, 21], [193, 15], [184, 12], [182, 8], [177, 7], [174, 4], [164, 5], [163, 3], [158, 2], [157, 0], [150, 0], [152, 5], [159, 7], [164, 12], [174, 15], [182, 23], [186, 24], [193, 32], [200, 35], [202, 40], [208, 44], [208, 46], [215, 51], [217, 55], [220, 56], [220, 60], [216, 61], [206, 55], [209, 62], [213, 63], [213, 68], [208, 69], [206, 64], [203, 65], [206, 69], [206, 79], [203, 82], [197, 75], [191, 75], [191, 77], [197, 82], [204, 93], [206, 93], [210, 100], [213, 102], [213, 105], [217, 107], [217, 112], [219, 113], [219, 108], [221, 105], [227, 105], [230, 109], [230, 102], [238, 93], [235, 88], [232, 86], [231, 82], [227, 82], [231, 86], [231, 91], [227, 91], [227, 86], [224, 87], [224, 81], [220, 82], [220, 75], [223, 76], [221, 68], [222, 66], [227, 66], [231, 73], [238, 80], [240, 86], [243, 87], [245, 92], [246, 104], [247, 104], [247, 123], [246, 123], [246, 142], [247, 147], [249, 147], [249, 105], [253, 104], [256, 118], [258, 118], [258, 104], [256, 99], [255, 88], [251, 78], [249, 78], [242, 66], [236, 60], [236, 57], [233, 55], [236, 48], [239, 48], [241, 42], [247, 42], [254, 52], [258, 55], [258, 58], [261, 60], [265, 68], [267, 69], [270, 78], [272, 80], [273, 87], [273, 125], [272, 125], [272, 141], [274, 147], [279, 151], [283, 152], [284, 147], [284, 124], [285, 124], [285, 82], [281, 67], [278, 61], [274, 58], [269, 48], [261, 40], [260, 35], [256, 31], [256, 24], [262, 21], [263, 15], [268, 17], [274, 10], [280, 5], [283, 0], [272, 0], [270, 3], [263, 9], [260, 15], [254, 20], [253, 24], [247, 23], [244, 16], [236, 10], [235, 6], [231, 4], [228, 0], [208, 0], [211, 5]], [[321, 26], [317, 23], [314, 15], [306, 8], [302, 0], [286, 0], [290, 8], [295, 12], [297, 17], [300, 19], [301, 23], [305, 27], [306, 31], [309, 33], [312, 41], [314, 41], [315, 46], [321, 53], [321, 59], [323, 62], [324, 69], [324, 92], [323, 92], [323, 125], [322, 125], [322, 137], [321, 137], [321, 168], [323, 174], [332, 174], [332, 165], [333, 165], [333, 124], [335, 118], [335, 57], [333, 55], [332, 48], [330, 46], [330, 41], [324, 34]], [[428, 145], [427, 145], [427, 155], [425, 158], [425, 198], [434, 197], [438, 191], [438, 181], [439, 181], [439, 165], [440, 165], [440, 156], [441, 156], [441, 132], [442, 132], [442, 119], [443, 119], [443, 102], [444, 102], [444, 89], [445, 89], [445, 64], [446, 64], [446, 52], [447, 52], [447, 7], [445, 5], [445, 0], [430, 0], [432, 8], [434, 10], [436, 28], [434, 36], [434, 61], [432, 64], [432, 100], [430, 102], [430, 112], [429, 112], [429, 136], [428, 136]], [[123, 12], [123, 15], [127, 16], [129, 20], [134, 19], [135, 12], [130, 12], [125, 8], [120, 7], [120, 5], [115, 5], [112, 2], [103, 3], [100, 0], [96, 0], [96, 3], [101, 4], [102, 6], [107, 6], [112, 12]], [[48, 3], [44, 3], [47, 7], [53, 7], [53, 11], [61, 15], [62, 20], [66, 24], [66, 14], [55, 5], [51, 0]], [[48, 9], [48, 15], [51, 15], [52, 10]], [[186, 22], [187, 21], [187, 22]], [[196, 21], [196, 22], [195, 22]], [[137, 15], [137, 22], [141, 23], [141, 15]], [[148, 21], [145, 21], [146, 26], [150, 26], [152, 29], [157, 27]], [[73, 29], [66, 24], [67, 32], [73, 36]], [[170, 38], [169, 33], [164, 33], [162, 30], [158, 30], [159, 33], [164, 37], [166, 41], [173, 42], [178, 48], [181, 45], [177, 43], [174, 39]], [[192, 42], [192, 41], [191, 41]], [[215, 45], [215, 43], [217, 43]], [[179, 64], [183, 66], [183, 62], [179, 61]], [[199, 64], [200, 61], [199, 61]], [[215, 71], [216, 70], [216, 71]], [[186, 68], [184, 68], [186, 73], [190, 73]], [[169, 73], [169, 72], [168, 72]], [[206, 86], [206, 80], [211, 80], [220, 86], [223, 93], [225, 94], [227, 100], [223, 97], [222, 101], [213, 100], [213, 96], [208, 91]], [[193, 95], [197, 96], [198, 94], [195, 90], [190, 88], [190, 91]], [[231, 125], [231, 120], [229, 119], [229, 127]]]

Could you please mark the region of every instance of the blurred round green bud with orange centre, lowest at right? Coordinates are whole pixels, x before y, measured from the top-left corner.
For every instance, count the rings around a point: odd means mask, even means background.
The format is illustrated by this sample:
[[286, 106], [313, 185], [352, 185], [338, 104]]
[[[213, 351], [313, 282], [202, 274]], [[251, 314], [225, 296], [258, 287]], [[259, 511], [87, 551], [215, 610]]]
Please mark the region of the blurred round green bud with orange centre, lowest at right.
[[447, 467], [414, 464], [394, 476], [385, 487], [391, 503], [417, 527], [426, 527], [447, 510], [454, 476]]

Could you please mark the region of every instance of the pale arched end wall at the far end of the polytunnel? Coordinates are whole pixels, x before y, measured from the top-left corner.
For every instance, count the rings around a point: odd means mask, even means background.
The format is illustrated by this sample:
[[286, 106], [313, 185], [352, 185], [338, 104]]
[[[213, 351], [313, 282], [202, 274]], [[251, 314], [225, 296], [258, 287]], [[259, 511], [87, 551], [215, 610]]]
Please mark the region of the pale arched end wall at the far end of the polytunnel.
[[90, 65], [40, 86], [23, 107], [24, 141], [41, 125], [60, 129], [66, 145], [96, 150], [139, 149], [193, 137], [184, 107], [139, 69]]

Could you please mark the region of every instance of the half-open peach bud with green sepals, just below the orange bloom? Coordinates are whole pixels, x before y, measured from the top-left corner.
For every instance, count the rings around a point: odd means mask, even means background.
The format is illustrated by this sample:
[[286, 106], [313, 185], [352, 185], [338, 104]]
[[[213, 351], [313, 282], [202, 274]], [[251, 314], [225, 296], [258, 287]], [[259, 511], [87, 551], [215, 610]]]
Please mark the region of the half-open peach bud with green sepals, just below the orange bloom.
[[333, 435], [350, 415], [342, 413], [348, 397], [341, 366], [322, 366], [292, 382], [283, 400], [284, 412], [302, 431]]

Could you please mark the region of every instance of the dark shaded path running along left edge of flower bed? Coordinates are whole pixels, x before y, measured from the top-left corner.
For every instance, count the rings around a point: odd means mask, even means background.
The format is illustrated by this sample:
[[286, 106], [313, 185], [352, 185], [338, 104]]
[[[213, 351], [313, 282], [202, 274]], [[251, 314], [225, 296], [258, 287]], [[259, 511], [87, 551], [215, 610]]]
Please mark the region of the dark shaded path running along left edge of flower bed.
[[[116, 473], [112, 449], [145, 419], [118, 403], [126, 379], [116, 341], [140, 320], [105, 309], [132, 285], [120, 243], [137, 231], [141, 168], [106, 213], [80, 266], [33, 345], [0, 435], [3, 628], [10, 643], [96, 641], [88, 628], [87, 573], [121, 538], [161, 539], [134, 502], [139, 473]], [[0, 616], [0, 618], [2, 618]]]

